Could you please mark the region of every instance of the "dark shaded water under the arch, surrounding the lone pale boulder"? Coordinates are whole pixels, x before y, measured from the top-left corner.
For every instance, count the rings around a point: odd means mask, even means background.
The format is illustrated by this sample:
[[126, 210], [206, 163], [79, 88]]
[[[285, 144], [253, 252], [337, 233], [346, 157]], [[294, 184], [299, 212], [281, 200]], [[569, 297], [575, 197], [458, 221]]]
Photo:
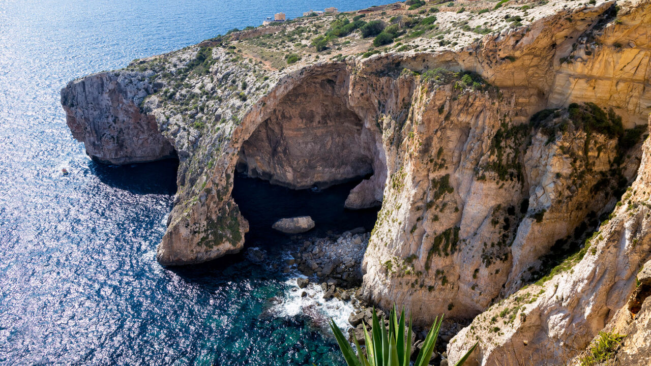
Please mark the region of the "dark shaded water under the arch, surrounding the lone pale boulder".
[[[292, 237], [325, 237], [358, 227], [371, 231], [378, 218], [379, 206], [362, 210], [344, 208], [350, 190], [364, 178], [368, 176], [353, 178], [323, 190], [316, 187], [293, 190], [251, 178], [245, 173], [234, 173], [232, 197], [242, 216], [249, 221], [245, 245], [273, 247], [288, 242]], [[294, 235], [271, 229], [275, 221], [296, 216], [311, 216], [316, 224], [314, 229]]]

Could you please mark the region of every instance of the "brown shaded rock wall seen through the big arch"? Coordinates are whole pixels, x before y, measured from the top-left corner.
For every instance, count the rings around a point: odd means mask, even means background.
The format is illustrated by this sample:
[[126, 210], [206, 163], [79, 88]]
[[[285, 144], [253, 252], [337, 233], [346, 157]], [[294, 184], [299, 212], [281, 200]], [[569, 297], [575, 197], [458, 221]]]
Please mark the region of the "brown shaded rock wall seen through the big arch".
[[376, 136], [346, 101], [344, 70], [294, 87], [242, 144], [238, 169], [294, 189], [373, 173]]

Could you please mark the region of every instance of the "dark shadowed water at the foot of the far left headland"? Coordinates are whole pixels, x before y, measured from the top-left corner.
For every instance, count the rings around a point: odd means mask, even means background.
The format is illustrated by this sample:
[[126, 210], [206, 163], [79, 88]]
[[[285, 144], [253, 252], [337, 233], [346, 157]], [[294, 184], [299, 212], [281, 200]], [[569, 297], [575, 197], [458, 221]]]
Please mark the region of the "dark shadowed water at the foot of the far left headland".
[[178, 159], [169, 158], [149, 163], [106, 165], [91, 160], [90, 173], [100, 182], [135, 195], [174, 195]]

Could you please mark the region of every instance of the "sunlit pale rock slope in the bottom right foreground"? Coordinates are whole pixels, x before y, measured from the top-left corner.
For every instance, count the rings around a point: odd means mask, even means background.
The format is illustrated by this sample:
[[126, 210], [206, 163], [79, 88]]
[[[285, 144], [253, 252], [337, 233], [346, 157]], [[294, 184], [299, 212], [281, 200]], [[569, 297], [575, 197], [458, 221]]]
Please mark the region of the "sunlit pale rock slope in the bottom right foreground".
[[531, 359], [533, 365], [562, 363], [585, 349], [609, 323], [618, 323], [611, 329], [632, 335], [622, 359], [644, 364], [640, 362], [648, 353], [648, 342], [642, 339], [648, 339], [651, 331], [648, 304], [644, 302], [632, 322], [628, 300], [639, 269], [651, 258], [650, 198], [651, 141], [647, 139], [637, 179], [613, 217], [602, 222], [583, 249], [557, 267], [558, 274], [518, 290], [478, 315], [450, 341], [450, 358], [460, 357], [479, 342], [475, 358], [480, 365], [494, 365], [507, 354]]

